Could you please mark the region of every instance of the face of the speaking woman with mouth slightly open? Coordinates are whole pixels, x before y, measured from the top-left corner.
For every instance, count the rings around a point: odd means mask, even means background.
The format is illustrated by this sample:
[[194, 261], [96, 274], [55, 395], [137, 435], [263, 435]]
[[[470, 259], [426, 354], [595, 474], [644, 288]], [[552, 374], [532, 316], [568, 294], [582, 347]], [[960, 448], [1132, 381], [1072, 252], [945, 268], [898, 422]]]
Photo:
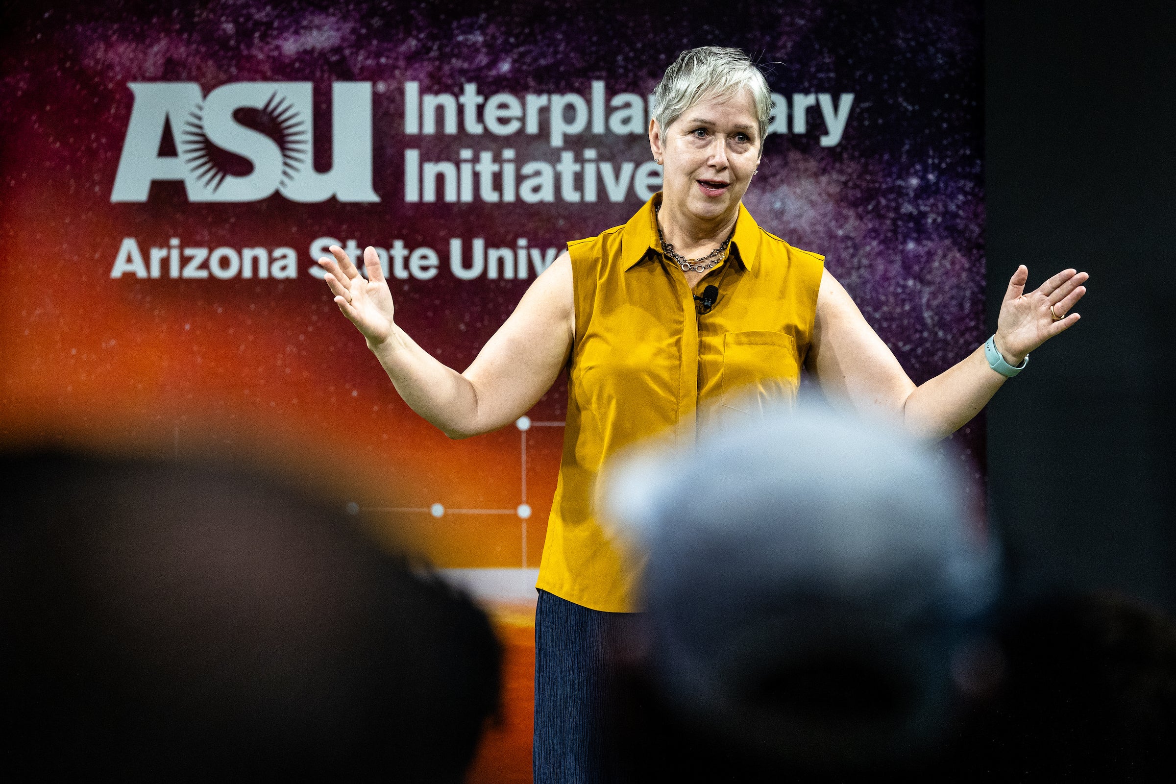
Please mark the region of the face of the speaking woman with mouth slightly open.
[[662, 129], [649, 123], [654, 159], [663, 165], [663, 199], [699, 220], [737, 209], [760, 163], [763, 141], [749, 91], [703, 99]]

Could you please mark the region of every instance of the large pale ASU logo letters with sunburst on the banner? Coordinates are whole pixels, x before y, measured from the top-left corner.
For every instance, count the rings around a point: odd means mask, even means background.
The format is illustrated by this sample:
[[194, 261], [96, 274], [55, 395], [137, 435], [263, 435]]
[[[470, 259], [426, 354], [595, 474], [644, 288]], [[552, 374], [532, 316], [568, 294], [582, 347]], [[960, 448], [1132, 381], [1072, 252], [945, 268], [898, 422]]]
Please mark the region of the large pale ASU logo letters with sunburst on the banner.
[[[188, 201], [375, 202], [372, 82], [332, 87], [330, 170], [314, 168], [310, 82], [128, 82], [135, 103], [112, 202], [145, 202], [151, 183], [183, 182]], [[168, 138], [171, 135], [171, 138]], [[174, 154], [160, 154], [171, 147]]]

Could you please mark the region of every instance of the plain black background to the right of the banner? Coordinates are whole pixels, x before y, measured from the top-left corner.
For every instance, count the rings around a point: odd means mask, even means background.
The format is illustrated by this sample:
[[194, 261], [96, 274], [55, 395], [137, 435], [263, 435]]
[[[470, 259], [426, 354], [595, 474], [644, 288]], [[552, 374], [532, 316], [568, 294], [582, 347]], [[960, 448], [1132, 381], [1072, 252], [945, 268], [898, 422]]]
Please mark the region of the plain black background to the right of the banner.
[[988, 2], [988, 322], [1090, 273], [1082, 321], [988, 408], [989, 510], [1028, 588], [1176, 610], [1176, 4]]

